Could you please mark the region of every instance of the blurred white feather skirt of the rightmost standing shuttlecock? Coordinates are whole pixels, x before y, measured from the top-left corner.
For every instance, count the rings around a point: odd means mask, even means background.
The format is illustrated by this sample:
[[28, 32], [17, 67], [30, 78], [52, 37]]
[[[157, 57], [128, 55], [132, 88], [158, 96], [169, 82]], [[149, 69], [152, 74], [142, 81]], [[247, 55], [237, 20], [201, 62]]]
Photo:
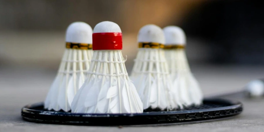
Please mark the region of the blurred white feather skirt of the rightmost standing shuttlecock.
[[181, 102], [188, 106], [202, 104], [203, 94], [199, 83], [194, 78], [189, 68], [184, 49], [165, 50], [173, 86], [180, 93]]

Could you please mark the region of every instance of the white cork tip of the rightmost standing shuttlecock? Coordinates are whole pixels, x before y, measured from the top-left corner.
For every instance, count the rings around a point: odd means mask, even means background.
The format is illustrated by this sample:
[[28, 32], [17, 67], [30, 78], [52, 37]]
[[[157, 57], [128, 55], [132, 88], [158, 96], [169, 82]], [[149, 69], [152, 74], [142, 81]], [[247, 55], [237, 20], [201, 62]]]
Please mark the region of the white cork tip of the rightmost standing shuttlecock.
[[186, 36], [182, 28], [177, 26], [167, 26], [163, 28], [165, 34], [166, 43], [168, 45], [185, 45]]

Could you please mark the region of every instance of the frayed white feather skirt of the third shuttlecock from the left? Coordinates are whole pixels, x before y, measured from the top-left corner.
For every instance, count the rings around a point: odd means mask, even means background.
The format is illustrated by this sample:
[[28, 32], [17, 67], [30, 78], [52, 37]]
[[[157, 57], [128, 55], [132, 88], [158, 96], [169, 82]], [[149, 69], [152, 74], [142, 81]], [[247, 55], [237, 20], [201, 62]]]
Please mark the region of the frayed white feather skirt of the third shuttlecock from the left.
[[172, 91], [172, 80], [163, 50], [140, 48], [130, 78], [143, 102], [143, 109], [182, 108], [179, 96], [175, 96]]

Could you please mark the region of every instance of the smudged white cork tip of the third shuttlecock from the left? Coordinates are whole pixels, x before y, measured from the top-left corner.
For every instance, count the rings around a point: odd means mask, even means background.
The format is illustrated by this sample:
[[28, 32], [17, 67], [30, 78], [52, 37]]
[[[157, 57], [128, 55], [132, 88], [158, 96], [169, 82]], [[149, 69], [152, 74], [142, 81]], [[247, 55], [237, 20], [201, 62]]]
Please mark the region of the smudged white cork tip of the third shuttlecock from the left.
[[154, 24], [143, 26], [138, 32], [138, 42], [165, 43], [162, 29]]

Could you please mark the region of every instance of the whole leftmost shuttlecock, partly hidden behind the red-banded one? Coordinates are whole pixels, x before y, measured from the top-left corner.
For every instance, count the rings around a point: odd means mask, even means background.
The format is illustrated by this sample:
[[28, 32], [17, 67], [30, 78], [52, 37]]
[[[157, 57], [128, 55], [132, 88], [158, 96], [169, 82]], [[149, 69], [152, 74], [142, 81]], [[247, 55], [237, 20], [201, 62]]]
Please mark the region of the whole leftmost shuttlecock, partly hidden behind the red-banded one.
[[48, 110], [70, 111], [70, 104], [84, 83], [92, 59], [92, 28], [74, 22], [66, 31], [66, 50], [50, 87], [44, 107]]

